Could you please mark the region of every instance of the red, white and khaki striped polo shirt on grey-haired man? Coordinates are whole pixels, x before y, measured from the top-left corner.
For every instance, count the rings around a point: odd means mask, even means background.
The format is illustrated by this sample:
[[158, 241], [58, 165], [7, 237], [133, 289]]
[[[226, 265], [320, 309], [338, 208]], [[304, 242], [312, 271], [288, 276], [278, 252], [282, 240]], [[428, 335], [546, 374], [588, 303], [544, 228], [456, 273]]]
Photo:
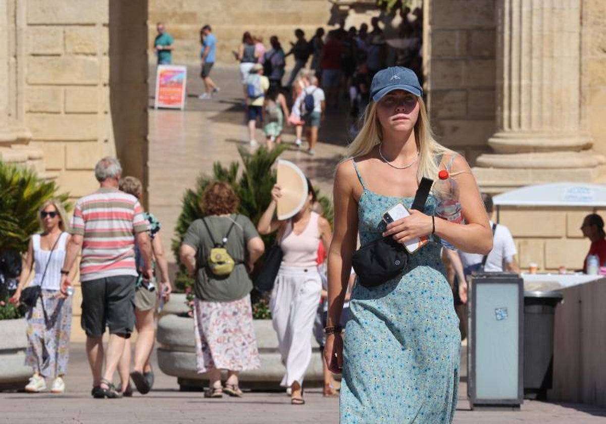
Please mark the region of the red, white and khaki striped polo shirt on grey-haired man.
[[101, 187], [78, 200], [72, 233], [84, 237], [80, 280], [136, 276], [135, 234], [147, 231], [147, 220], [135, 196]]

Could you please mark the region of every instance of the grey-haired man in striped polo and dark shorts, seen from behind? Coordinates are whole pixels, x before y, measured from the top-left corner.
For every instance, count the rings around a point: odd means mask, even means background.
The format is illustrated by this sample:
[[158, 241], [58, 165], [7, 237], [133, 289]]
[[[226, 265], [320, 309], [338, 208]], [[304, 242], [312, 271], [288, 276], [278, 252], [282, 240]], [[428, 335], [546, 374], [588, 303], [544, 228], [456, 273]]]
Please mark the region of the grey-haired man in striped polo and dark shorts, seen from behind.
[[[76, 203], [73, 235], [61, 270], [61, 291], [65, 294], [71, 284], [68, 271], [82, 248], [81, 325], [93, 373], [92, 395], [101, 399], [122, 396], [113, 386], [112, 377], [135, 324], [135, 241], [143, 256], [144, 275], [153, 273], [147, 221], [135, 196], [118, 190], [121, 174], [120, 163], [113, 157], [104, 157], [96, 165], [95, 177], [101, 187]], [[110, 339], [104, 354], [102, 336], [106, 326]]]

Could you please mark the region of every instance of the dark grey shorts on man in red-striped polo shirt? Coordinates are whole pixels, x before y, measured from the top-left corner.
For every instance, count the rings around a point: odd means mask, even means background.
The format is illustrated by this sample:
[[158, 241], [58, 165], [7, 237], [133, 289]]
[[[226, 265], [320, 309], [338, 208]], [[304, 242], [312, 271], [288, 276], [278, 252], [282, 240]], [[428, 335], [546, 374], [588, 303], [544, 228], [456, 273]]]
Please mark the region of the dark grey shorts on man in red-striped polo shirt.
[[82, 282], [82, 330], [88, 337], [105, 333], [130, 337], [135, 326], [135, 276], [114, 276]]

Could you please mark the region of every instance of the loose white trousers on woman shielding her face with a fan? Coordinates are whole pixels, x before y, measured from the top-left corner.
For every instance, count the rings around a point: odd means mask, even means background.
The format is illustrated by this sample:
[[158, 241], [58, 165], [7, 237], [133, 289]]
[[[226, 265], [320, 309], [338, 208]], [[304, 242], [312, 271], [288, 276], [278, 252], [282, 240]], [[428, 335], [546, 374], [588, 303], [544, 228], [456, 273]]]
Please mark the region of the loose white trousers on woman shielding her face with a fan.
[[311, 361], [311, 330], [322, 280], [316, 267], [281, 267], [271, 291], [271, 320], [286, 373], [281, 386], [303, 385]]

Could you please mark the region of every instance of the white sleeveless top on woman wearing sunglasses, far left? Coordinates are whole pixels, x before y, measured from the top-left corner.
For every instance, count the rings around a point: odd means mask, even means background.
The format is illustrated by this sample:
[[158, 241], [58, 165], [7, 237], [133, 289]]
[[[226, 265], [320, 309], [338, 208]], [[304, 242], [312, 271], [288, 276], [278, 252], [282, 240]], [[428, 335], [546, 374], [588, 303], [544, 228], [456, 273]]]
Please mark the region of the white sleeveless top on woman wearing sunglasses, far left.
[[[32, 245], [34, 248], [34, 271], [36, 272], [32, 285], [42, 286], [43, 290], [59, 290], [61, 283], [61, 268], [65, 259], [65, 240], [68, 233], [61, 233], [55, 251], [51, 256], [50, 250], [42, 250], [40, 248], [40, 234], [32, 236]], [[48, 258], [50, 257], [50, 262]], [[42, 274], [48, 262], [48, 269], [42, 281]]]

